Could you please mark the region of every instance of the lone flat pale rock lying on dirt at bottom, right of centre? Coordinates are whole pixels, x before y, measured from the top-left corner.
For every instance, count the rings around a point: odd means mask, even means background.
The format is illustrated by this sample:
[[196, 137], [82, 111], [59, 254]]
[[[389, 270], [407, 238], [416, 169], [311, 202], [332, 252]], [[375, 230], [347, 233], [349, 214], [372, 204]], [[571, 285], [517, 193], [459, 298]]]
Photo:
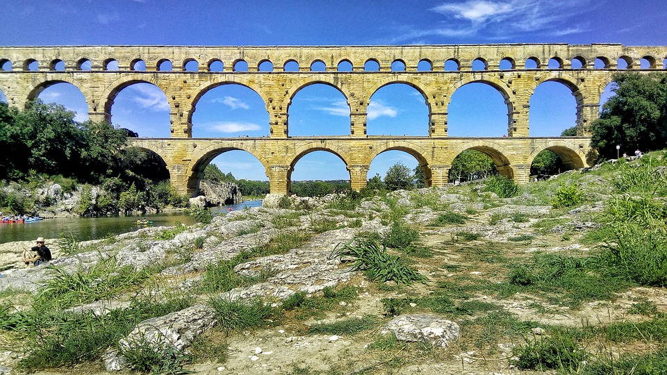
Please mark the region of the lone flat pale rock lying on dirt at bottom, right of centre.
[[398, 340], [427, 342], [444, 348], [450, 342], [459, 340], [461, 327], [438, 315], [411, 314], [395, 317], [383, 327], [381, 333], [394, 333]]

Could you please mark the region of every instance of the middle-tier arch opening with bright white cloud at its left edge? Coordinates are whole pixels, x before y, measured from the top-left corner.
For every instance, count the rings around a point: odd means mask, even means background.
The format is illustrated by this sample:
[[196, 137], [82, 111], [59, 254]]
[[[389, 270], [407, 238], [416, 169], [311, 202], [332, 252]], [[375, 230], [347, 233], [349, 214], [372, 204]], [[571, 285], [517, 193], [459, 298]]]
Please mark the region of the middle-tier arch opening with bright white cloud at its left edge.
[[366, 133], [427, 136], [429, 107], [424, 94], [406, 83], [379, 88], [366, 108]]

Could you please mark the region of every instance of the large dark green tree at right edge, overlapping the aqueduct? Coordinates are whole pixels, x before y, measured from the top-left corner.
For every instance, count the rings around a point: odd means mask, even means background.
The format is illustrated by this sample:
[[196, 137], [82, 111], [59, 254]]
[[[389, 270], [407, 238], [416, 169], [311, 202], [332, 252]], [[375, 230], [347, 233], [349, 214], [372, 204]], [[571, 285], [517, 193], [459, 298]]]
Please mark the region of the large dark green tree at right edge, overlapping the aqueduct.
[[591, 126], [592, 144], [603, 158], [616, 146], [632, 151], [662, 149], [667, 140], [667, 76], [637, 72], [614, 75], [615, 95]]

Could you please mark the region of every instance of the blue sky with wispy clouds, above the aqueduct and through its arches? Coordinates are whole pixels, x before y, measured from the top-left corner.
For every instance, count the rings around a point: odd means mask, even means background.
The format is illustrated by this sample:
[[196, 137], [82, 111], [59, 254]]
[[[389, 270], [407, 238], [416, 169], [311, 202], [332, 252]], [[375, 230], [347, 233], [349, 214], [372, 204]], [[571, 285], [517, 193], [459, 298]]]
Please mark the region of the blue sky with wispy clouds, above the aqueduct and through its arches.
[[[654, 0], [4, 0], [0, 45], [664, 45], [666, 19], [664, 2]], [[40, 98], [76, 111], [76, 119], [87, 119], [83, 94], [73, 86], [54, 85]], [[471, 109], [473, 104], [477, 110]], [[427, 135], [424, 100], [406, 85], [379, 90], [368, 111], [369, 135]], [[559, 83], [538, 86], [530, 111], [531, 135], [559, 135], [575, 125], [575, 100]], [[325, 85], [309, 86], [297, 93], [289, 114], [290, 135], [349, 134], [345, 99]], [[457, 90], [449, 114], [452, 136], [501, 136], [507, 131], [507, 107], [502, 97], [483, 84]], [[140, 136], [167, 137], [166, 97], [154, 86], [132, 85], [115, 100], [112, 122]], [[263, 102], [241, 86], [226, 85], [206, 93], [192, 122], [195, 137], [269, 133]], [[397, 161], [416, 165], [412, 156], [390, 151], [373, 161], [368, 177], [376, 173], [384, 176]], [[261, 164], [243, 151], [224, 153], [213, 163], [237, 178], [266, 179]], [[349, 174], [342, 161], [324, 151], [304, 156], [293, 173], [295, 181], [330, 178], [348, 179]]]

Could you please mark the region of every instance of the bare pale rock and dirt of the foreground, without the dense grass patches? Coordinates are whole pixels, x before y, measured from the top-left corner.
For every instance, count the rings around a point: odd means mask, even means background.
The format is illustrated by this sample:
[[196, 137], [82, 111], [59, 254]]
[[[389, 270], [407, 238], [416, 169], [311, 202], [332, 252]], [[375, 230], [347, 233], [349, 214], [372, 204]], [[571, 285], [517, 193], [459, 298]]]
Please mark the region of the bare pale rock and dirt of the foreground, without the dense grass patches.
[[[224, 353], [217, 358], [199, 355], [195, 363], [186, 365], [186, 369], [200, 374], [531, 373], [516, 368], [512, 349], [545, 334], [545, 328], [602, 326], [643, 319], [630, 313], [637, 301], [649, 301], [660, 312], [667, 312], [664, 288], [629, 288], [611, 299], [582, 303], [563, 303], [567, 296], [557, 293], [499, 292], [501, 285], [507, 285], [509, 266], [527, 263], [536, 253], [586, 256], [597, 251], [597, 243], [582, 241], [582, 237], [597, 227], [595, 215], [602, 210], [602, 201], [608, 193], [603, 188], [604, 178], [591, 174], [586, 180], [592, 188], [588, 200], [581, 207], [566, 210], [554, 209], [548, 203], [553, 183], [511, 199], [479, 192], [481, 185], [472, 184], [394, 192], [393, 200], [389, 201], [397, 203], [396, 206], [376, 197], [363, 201], [354, 210], [313, 208], [317, 206], [313, 201], [308, 202], [310, 207], [305, 210], [240, 210], [215, 217], [208, 225], [185, 228], [168, 240], [163, 239], [164, 233], [171, 228], [142, 228], [119, 235], [113, 243], [83, 242], [79, 244], [83, 251], [72, 256], [65, 255], [69, 249], [60, 248], [56, 239], [47, 239], [56, 258], [49, 267], [25, 267], [19, 261], [22, 249], [31, 246], [31, 242], [0, 244], [0, 266], [4, 269], [0, 290], [4, 291], [2, 296], [7, 296], [2, 297], [3, 303], [17, 310], [26, 309], [30, 294], [56, 277], [56, 269], [74, 274], [94, 267], [101, 259], [113, 257], [116, 267], [131, 265], [141, 269], [165, 264], [154, 275], [153, 281], [158, 282], [151, 283], [150, 292], [156, 298], [174, 291], [194, 293], [208, 265], [269, 244], [281, 233], [296, 231], [306, 235], [306, 240], [297, 247], [254, 257], [234, 269], [238, 275], [258, 275], [270, 270], [267, 278], [215, 297], [242, 301], [261, 298], [279, 306], [295, 292], [318, 298], [327, 287], [347, 286], [355, 291], [354, 298], [303, 316], [299, 316], [302, 310], [285, 310], [272, 325], [227, 332], [220, 330], [220, 322], [207, 303], [213, 296], [200, 293], [192, 306], [142, 322], [118, 347], [142, 335], [157, 341], [169, 338], [168, 342], [176, 349], [192, 349], [195, 354], [197, 340], [207, 342], [205, 346], [222, 348]], [[350, 263], [330, 256], [340, 243], [360, 233], [381, 235], [389, 231], [389, 214], [396, 207], [403, 211], [402, 220], [420, 233], [420, 250], [400, 255], [427, 277], [425, 283], [399, 287], [393, 282], [369, 281], [360, 272], [351, 272]], [[435, 226], [433, 223], [443, 212], [462, 215], [465, 222]], [[200, 246], [193, 246], [196, 242]], [[20, 292], [7, 292], [10, 289]], [[128, 295], [136, 292], [128, 291], [74, 309], [108, 313], [110, 309], [127, 306]], [[423, 301], [434, 296], [451, 299], [450, 310], [427, 308]], [[434, 329], [449, 327], [443, 333], [447, 340], [431, 340], [427, 344], [386, 340], [381, 332], [395, 318], [387, 313], [387, 299], [406, 301], [400, 316], [418, 314], [442, 319], [444, 322]], [[320, 324], [354, 322], [350, 319], [365, 317], [373, 317], [372, 324], [359, 333], [311, 333]], [[508, 321], [514, 322], [513, 326], [526, 324], [522, 328], [508, 328], [513, 327], [504, 323]], [[588, 349], [611, 353], [645, 349], [601, 345], [595, 349], [591, 344]], [[11, 332], [0, 333], [0, 347], [0, 373], [19, 373], [13, 368], [28, 348]], [[128, 370], [114, 347], [99, 361], [36, 373], [117, 371]]]

